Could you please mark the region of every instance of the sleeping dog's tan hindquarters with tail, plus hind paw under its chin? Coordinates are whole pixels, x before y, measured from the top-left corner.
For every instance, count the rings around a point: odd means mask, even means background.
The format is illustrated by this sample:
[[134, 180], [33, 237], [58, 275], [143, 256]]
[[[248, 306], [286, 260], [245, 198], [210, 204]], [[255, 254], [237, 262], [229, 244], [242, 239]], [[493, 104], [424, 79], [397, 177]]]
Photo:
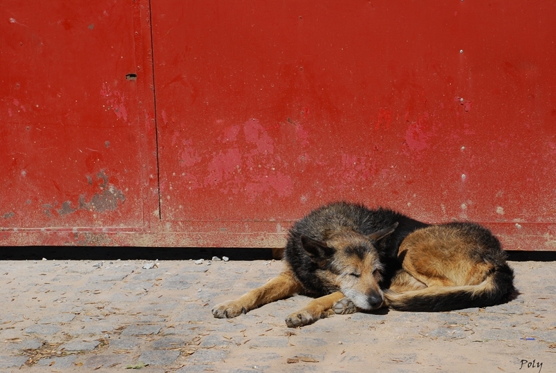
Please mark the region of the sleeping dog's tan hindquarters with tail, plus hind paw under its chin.
[[[384, 306], [405, 311], [447, 311], [505, 303], [516, 294], [514, 272], [500, 242], [474, 223], [431, 225], [402, 241], [402, 264], [384, 292]], [[337, 313], [357, 310], [341, 299]]]

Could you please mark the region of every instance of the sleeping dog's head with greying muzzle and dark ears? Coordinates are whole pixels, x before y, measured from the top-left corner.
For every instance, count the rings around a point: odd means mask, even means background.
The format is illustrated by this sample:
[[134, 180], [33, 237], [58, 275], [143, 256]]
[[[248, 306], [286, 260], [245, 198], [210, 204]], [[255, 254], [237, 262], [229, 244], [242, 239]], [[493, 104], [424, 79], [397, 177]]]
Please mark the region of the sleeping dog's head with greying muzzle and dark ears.
[[352, 230], [334, 232], [324, 241], [302, 236], [304, 251], [321, 269], [316, 276], [334, 287], [363, 310], [382, 307], [384, 294], [380, 289], [384, 269], [375, 247], [390, 235], [398, 223], [361, 235]]

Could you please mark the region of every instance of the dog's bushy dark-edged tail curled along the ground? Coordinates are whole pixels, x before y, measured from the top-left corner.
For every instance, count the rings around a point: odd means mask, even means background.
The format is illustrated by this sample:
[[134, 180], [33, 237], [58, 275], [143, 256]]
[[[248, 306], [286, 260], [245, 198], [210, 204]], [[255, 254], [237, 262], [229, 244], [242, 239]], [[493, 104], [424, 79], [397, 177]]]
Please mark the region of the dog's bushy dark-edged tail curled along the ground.
[[394, 310], [440, 312], [506, 303], [515, 292], [514, 271], [502, 264], [479, 285], [425, 287], [402, 293], [386, 291], [384, 296]]

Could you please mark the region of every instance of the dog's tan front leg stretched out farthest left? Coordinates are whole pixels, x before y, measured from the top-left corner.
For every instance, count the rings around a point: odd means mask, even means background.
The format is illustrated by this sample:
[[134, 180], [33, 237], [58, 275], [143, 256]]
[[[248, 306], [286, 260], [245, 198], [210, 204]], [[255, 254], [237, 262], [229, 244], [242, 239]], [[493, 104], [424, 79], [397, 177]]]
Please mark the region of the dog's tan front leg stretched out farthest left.
[[251, 290], [234, 301], [215, 305], [212, 310], [213, 316], [218, 319], [236, 317], [261, 305], [302, 292], [302, 289], [303, 287], [297, 278], [295, 278], [295, 275], [287, 270], [269, 280], [265, 285]]

